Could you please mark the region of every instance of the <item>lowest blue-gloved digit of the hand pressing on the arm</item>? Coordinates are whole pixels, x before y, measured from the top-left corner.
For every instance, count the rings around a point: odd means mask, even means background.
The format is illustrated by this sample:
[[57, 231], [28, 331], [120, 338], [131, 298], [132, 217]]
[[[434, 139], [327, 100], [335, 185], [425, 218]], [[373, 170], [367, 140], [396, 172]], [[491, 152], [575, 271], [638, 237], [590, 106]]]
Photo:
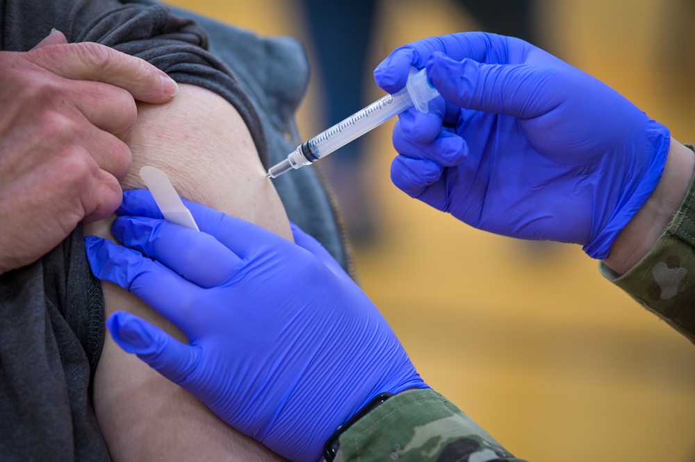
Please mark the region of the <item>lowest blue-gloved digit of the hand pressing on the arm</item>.
[[106, 320], [113, 340], [123, 350], [137, 354], [142, 361], [178, 385], [189, 382], [199, 350], [185, 345], [158, 327], [127, 311], [115, 311]]

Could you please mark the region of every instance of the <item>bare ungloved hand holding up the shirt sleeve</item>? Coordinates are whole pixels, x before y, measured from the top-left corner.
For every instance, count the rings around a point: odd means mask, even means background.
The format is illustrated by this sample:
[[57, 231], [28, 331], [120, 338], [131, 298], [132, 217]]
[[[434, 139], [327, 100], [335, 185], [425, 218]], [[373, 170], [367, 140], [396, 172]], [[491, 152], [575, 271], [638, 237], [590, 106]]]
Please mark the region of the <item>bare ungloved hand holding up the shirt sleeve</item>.
[[28, 52], [0, 51], [0, 68], [1, 274], [118, 207], [135, 100], [171, 101], [177, 85], [144, 60], [59, 32]]

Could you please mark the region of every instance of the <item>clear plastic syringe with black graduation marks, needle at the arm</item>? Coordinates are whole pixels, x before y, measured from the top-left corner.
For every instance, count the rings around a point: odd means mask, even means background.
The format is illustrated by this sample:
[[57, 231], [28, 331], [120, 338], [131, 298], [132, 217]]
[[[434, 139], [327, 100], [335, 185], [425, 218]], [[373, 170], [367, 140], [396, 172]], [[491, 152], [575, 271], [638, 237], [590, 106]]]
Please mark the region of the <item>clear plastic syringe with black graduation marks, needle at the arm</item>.
[[439, 92], [430, 85], [425, 69], [418, 71], [412, 67], [408, 82], [400, 92], [387, 94], [363, 110], [300, 144], [285, 160], [270, 167], [266, 176], [277, 178], [286, 171], [312, 164], [413, 105], [421, 112], [427, 112], [427, 102], [437, 95]]

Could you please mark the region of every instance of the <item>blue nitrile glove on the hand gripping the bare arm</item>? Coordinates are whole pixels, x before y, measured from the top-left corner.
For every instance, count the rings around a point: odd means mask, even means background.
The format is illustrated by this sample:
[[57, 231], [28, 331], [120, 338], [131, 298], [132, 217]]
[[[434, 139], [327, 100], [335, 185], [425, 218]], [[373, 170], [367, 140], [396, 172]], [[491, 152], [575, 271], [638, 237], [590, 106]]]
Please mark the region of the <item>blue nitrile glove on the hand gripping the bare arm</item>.
[[293, 227], [295, 244], [186, 207], [201, 232], [164, 221], [149, 191], [127, 191], [112, 231], [135, 250], [85, 239], [97, 277], [190, 340], [120, 311], [107, 325], [124, 350], [293, 461], [321, 460], [336, 427], [375, 395], [428, 388], [379, 310], [308, 234]]

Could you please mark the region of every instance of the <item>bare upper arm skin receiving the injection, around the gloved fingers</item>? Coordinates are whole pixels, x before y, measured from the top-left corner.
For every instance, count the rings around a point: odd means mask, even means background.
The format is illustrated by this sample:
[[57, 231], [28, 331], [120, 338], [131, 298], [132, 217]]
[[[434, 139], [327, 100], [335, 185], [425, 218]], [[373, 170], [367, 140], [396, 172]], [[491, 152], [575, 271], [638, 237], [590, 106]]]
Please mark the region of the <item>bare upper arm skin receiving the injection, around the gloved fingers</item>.
[[[183, 198], [259, 224], [286, 239], [291, 230], [279, 196], [238, 112], [217, 94], [181, 85], [167, 105], [138, 105], [138, 120], [125, 141], [133, 167], [124, 189], [143, 187], [143, 165], [165, 171]], [[85, 232], [111, 238], [108, 220]], [[113, 238], [111, 238], [113, 239]], [[102, 282], [106, 316], [131, 311], [185, 337], [135, 296]], [[193, 395], [168, 382], [108, 335], [94, 391], [95, 411], [115, 461], [270, 461], [279, 456], [224, 424]]]

